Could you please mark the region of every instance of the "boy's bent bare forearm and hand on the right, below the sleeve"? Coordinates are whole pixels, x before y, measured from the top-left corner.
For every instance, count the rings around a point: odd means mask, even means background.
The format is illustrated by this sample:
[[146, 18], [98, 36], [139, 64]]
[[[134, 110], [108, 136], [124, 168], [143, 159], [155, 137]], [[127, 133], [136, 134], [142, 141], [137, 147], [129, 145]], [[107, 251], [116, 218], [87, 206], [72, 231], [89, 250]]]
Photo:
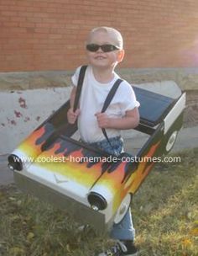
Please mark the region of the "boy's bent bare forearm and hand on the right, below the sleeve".
[[128, 130], [138, 126], [139, 112], [138, 108], [128, 110], [122, 118], [111, 118], [106, 113], [96, 113], [96, 119], [100, 128]]

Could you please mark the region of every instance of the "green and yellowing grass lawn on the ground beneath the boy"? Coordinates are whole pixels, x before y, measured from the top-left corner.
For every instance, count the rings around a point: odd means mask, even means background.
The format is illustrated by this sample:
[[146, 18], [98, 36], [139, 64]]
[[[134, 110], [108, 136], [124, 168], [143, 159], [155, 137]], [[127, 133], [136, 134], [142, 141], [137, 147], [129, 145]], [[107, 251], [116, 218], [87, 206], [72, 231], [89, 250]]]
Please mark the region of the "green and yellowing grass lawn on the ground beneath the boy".
[[[156, 165], [133, 198], [142, 256], [198, 255], [198, 149], [179, 155]], [[14, 185], [0, 188], [0, 217], [1, 256], [93, 256], [112, 243]]]

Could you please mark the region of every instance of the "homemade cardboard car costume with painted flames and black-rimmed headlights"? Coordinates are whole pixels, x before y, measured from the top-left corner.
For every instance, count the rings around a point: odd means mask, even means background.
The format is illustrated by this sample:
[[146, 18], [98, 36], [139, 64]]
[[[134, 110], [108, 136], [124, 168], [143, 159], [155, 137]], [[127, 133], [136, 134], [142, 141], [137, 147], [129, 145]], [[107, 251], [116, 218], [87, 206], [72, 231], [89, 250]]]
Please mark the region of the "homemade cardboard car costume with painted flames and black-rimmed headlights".
[[185, 93], [175, 99], [133, 89], [140, 102], [135, 130], [149, 136], [136, 155], [124, 152], [116, 157], [76, 141], [72, 136], [77, 125], [68, 124], [67, 101], [8, 157], [18, 187], [99, 231], [122, 221], [132, 196], [154, 167], [148, 158], [160, 157], [174, 146], [185, 109]]

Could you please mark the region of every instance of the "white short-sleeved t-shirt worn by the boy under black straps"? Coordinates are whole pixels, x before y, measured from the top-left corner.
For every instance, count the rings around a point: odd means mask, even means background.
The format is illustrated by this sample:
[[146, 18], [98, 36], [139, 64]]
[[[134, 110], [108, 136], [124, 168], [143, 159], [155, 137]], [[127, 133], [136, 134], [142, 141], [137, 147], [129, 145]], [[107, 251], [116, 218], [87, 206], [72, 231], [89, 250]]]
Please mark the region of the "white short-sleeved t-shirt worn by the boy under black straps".
[[[80, 69], [81, 67], [78, 67], [73, 77], [71, 77], [75, 86], [78, 82]], [[83, 141], [91, 143], [105, 139], [102, 129], [97, 124], [95, 114], [101, 112], [107, 94], [118, 78], [120, 77], [114, 72], [114, 77], [110, 83], [99, 83], [94, 77], [92, 67], [88, 66], [86, 68], [80, 98], [81, 114], [78, 117], [78, 129]], [[106, 113], [110, 117], [120, 118], [125, 115], [127, 110], [132, 110], [138, 106], [139, 103], [136, 100], [132, 86], [123, 80], [117, 88]], [[106, 129], [106, 131], [109, 138], [120, 135], [120, 131], [116, 129]]]

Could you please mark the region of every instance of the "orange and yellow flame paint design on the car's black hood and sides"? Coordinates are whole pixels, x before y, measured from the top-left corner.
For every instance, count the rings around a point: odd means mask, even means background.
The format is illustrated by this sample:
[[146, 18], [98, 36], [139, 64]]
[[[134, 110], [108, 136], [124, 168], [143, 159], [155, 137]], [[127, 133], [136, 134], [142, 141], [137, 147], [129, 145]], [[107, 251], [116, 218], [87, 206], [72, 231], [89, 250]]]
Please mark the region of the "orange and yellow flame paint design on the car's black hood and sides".
[[[154, 163], [138, 163], [138, 168], [133, 168], [136, 163], [117, 161], [117, 163], [107, 163], [96, 161], [93, 163], [70, 161], [78, 157], [102, 157], [99, 153], [91, 151], [75, 141], [57, 138], [50, 147], [42, 152], [42, 145], [55, 131], [53, 125], [45, 123], [35, 130], [18, 147], [27, 156], [34, 157], [34, 167], [46, 169], [52, 173], [59, 173], [66, 179], [75, 181], [77, 184], [86, 186], [89, 191], [95, 184], [106, 186], [112, 193], [112, 211], [117, 211], [123, 198], [128, 193], [135, 193], [143, 179], [148, 175]], [[152, 157], [159, 147], [160, 141], [154, 144], [145, 157]], [[39, 162], [41, 158], [60, 159], [58, 162]], [[92, 158], [93, 159], [93, 158]], [[134, 164], [134, 165], [133, 165]]]

